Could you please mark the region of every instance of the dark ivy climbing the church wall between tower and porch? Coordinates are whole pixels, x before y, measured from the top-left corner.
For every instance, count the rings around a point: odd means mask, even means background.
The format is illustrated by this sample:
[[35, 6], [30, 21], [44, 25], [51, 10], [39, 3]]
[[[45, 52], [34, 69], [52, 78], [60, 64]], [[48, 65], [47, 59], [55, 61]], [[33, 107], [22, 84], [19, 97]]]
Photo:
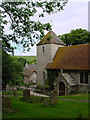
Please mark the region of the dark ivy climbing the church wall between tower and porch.
[[47, 70], [47, 84], [50, 86], [50, 91], [54, 90], [54, 81], [58, 76], [58, 70]]

